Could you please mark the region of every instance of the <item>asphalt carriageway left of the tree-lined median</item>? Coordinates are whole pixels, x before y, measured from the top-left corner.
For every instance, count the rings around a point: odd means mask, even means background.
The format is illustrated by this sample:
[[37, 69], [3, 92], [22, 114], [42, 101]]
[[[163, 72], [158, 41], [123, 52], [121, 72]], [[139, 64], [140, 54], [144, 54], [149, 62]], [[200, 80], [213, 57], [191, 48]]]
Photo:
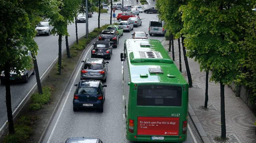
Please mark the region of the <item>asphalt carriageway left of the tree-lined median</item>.
[[[101, 17], [107, 17], [108, 14], [101, 14]], [[98, 14], [94, 13], [92, 18], [88, 19], [89, 32], [98, 26]], [[109, 21], [101, 20], [100, 25], [109, 24]], [[78, 37], [85, 34], [85, 23], [77, 23]], [[75, 42], [75, 24], [68, 25], [69, 44]], [[58, 57], [58, 36], [51, 34], [50, 36], [39, 35], [35, 37], [38, 44], [37, 64], [40, 77], [48, 70], [49, 66]], [[65, 51], [65, 37], [62, 38], [62, 52]], [[30, 92], [36, 84], [35, 75], [29, 77], [28, 83], [13, 83], [11, 84], [11, 103], [12, 112], [21, 103], [24, 97]], [[6, 104], [5, 104], [5, 85], [0, 84], [0, 128], [7, 120]]]

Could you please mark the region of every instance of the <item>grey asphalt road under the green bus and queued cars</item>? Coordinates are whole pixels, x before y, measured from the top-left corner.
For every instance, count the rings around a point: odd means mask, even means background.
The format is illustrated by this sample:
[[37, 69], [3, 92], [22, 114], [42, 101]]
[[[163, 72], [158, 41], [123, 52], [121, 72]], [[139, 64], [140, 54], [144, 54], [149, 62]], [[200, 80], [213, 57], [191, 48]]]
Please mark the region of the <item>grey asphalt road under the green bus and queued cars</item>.
[[[147, 31], [149, 20], [157, 20], [156, 14], [140, 14], [145, 17], [142, 26], [135, 27], [133, 31]], [[104, 143], [132, 143], [125, 138], [125, 119], [124, 101], [122, 98], [122, 73], [120, 53], [123, 51], [125, 39], [130, 39], [132, 32], [125, 32], [119, 39], [117, 48], [113, 49], [113, 55], [108, 65], [106, 87], [106, 100], [104, 112], [100, 113], [93, 109], [81, 109], [73, 111], [73, 95], [75, 92], [74, 84], [80, 80], [80, 67], [76, 69], [67, 92], [62, 99], [59, 108], [48, 131], [43, 139], [43, 143], [65, 142], [68, 137], [96, 137]], [[149, 39], [163, 40], [162, 36], [149, 36]], [[84, 58], [89, 58], [90, 47], [85, 53]], [[195, 132], [193, 123], [189, 121], [187, 143], [200, 142], [199, 136]]]

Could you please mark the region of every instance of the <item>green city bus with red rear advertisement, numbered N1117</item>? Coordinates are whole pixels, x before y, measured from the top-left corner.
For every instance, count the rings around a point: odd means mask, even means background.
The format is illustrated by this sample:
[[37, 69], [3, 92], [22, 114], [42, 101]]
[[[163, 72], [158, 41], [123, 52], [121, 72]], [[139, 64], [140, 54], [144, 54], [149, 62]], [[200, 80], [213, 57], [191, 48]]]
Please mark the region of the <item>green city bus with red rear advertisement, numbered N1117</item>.
[[161, 42], [127, 39], [120, 57], [126, 138], [146, 142], [186, 141], [188, 83]]

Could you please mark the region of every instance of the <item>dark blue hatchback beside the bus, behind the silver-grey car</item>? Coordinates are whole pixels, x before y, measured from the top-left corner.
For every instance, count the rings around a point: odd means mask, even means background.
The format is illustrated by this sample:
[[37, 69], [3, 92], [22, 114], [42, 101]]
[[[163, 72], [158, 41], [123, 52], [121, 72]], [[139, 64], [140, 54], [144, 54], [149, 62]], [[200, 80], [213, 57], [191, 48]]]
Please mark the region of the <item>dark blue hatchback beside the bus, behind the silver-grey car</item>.
[[74, 111], [78, 108], [98, 108], [103, 112], [106, 85], [99, 80], [81, 80], [75, 86], [77, 87], [73, 98]]

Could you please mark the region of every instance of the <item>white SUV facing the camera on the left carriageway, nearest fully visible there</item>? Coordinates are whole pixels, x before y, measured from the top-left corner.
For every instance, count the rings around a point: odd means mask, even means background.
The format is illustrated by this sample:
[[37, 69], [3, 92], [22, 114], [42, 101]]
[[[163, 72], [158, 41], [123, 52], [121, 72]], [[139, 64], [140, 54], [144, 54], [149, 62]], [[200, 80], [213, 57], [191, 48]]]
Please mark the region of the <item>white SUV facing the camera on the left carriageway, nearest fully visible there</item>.
[[36, 28], [36, 36], [39, 34], [50, 35], [53, 30], [53, 26], [49, 24], [48, 21], [41, 21], [37, 24]]

